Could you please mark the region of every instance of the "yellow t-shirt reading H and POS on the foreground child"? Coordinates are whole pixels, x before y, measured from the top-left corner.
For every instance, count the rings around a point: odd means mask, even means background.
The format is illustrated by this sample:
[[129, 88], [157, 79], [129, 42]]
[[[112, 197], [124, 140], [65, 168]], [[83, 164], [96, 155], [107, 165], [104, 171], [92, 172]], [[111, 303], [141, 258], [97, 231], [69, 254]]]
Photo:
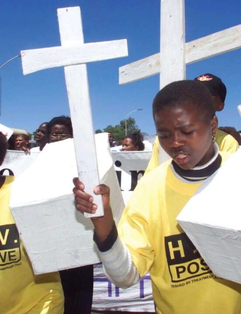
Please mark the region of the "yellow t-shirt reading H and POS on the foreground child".
[[118, 226], [140, 276], [150, 272], [159, 314], [241, 313], [241, 285], [216, 278], [176, 220], [200, 186], [167, 161], [140, 180]]

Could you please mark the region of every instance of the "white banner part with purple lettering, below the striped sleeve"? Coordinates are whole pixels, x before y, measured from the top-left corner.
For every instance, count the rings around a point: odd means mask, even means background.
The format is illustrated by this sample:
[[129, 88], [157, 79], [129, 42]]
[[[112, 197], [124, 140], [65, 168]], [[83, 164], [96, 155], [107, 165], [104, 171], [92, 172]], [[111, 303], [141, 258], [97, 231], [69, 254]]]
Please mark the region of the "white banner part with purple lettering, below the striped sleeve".
[[121, 289], [105, 277], [102, 264], [94, 265], [92, 313], [95, 311], [155, 313], [149, 273], [132, 287]]

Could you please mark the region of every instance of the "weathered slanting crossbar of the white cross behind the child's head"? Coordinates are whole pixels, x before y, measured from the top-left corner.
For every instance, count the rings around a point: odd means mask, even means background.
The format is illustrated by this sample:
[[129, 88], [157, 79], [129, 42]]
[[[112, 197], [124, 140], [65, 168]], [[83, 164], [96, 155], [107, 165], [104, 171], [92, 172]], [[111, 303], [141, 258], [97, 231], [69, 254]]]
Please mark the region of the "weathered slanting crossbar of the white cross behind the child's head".
[[[186, 64], [241, 48], [241, 24], [185, 44]], [[161, 73], [160, 53], [119, 68], [119, 84], [127, 84]]]

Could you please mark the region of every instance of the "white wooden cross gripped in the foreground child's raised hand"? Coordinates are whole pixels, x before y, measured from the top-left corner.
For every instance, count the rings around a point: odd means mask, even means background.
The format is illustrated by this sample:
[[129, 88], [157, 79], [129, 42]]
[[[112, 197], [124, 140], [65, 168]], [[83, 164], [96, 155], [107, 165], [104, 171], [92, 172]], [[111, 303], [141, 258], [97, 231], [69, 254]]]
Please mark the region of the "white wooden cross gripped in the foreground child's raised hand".
[[[127, 41], [84, 44], [80, 8], [57, 11], [61, 46], [21, 51], [23, 73], [64, 66], [78, 174], [85, 183], [85, 191], [93, 194], [99, 176], [85, 63], [127, 56]], [[103, 215], [101, 197], [95, 196], [94, 202], [98, 210], [87, 217]]]

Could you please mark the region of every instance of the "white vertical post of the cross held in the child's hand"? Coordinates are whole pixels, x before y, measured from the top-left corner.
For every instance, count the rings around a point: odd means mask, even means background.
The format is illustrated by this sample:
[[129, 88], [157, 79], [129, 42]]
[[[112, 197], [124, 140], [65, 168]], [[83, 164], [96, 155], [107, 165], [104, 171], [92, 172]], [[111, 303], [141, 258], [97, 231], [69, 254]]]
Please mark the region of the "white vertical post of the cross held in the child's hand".
[[[57, 12], [61, 45], [83, 44], [80, 8], [68, 8], [68, 10], [62, 8], [58, 9]], [[99, 175], [86, 64], [64, 67], [64, 75], [74, 134], [78, 175], [85, 184], [85, 191], [93, 195], [93, 188], [99, 184]], [[94, 216], [103, 215], [102, 198], [95, 196], [94, 202], [98, 205]]]

